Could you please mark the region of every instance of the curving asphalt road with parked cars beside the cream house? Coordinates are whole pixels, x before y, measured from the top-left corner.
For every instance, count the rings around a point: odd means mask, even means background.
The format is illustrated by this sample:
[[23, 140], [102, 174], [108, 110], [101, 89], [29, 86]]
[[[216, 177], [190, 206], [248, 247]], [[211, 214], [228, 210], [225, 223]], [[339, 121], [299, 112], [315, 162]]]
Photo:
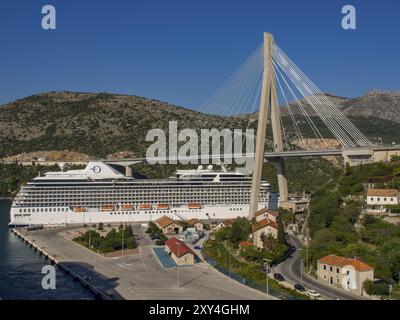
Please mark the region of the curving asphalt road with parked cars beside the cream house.
[[365, 297], [325, 285], [304, 272], [303, 275], [301, 275], [302, 268], [299, 258], [299, 249], [302, 248], [302, 243], [293, 235], [288, 235], [287, 240], [295, 251], [288, 259], [276, 267], [276, 272], [281, 273], [286, 278], [286, 281], [292, 284], [302, 284], [307, 290], [315, 290], [323, 297], [331, 300], [367, 300]]

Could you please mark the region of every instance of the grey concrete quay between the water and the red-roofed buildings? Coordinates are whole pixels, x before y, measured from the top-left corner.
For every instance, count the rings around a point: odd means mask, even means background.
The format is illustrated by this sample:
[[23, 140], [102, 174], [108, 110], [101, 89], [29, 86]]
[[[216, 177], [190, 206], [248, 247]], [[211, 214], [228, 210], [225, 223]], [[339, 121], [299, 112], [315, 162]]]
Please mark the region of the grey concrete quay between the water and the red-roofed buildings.
[[[202, 262], [164, 269], [153, 253], [150, 239], [140, 227], [139, 253], [106, 258], [63, 236], [63, 228], [27, 232], [12, 229], [34, 250], [106, 300], [276, 300], [249, 288]], [[178, 285], [179, 281], [179, 285]]]

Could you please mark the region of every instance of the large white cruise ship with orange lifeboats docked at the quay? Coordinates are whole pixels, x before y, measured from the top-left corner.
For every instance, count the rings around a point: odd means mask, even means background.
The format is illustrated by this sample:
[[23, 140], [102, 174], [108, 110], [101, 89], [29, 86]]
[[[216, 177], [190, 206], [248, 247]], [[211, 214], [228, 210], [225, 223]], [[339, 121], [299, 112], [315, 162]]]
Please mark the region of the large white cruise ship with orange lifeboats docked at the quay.
[[[228, 219], [249, 213], [251, 177], [223, 167], [178, 170], [163, 179], [126, 177], [104, 162], [48, 172], [21, 188], [10, 225], [60, 225]], [[276, 209], [279, 195], [261, 183], [259, 208]]]

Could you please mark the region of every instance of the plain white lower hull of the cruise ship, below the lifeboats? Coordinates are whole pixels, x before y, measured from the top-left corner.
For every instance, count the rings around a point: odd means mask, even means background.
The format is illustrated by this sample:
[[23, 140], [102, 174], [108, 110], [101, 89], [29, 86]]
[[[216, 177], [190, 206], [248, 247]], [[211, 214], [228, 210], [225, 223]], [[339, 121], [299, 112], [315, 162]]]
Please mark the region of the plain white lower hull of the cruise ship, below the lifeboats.
[[[277, 209], [277, 203], [259, 203], [259, 208], [268, 207]], [[35, 209], [35, 210], [34, 210]], [[48, 208], [47, 211], [49, 211]], [[247, 217], [249, 205], [224, 205], [224, 206], [204, 206], [202, 209], [189, 209], [188, 207], [172, 207], [168, 210], [135, 210], [124, 211], [116, 210], [102, 212], [98, 210], [88, 210], [87, 212], [75, 212], [69, 208], [65, 211], [57, 211], [52, 208], [50, 212], [37, 212], [36, 208], [26, 209], [25, 213], [19, 213], [18, 209], [11, 208], [10, 225], [65, 225], [65, 224], [92, 224], [92, 223], [120, 223], [120, 222], [148, 222], [154, 221], [162, 216], [168, 216], [174, 220], [219, 220], [232, 219], [237, 217]], [[35, 212], [33, 212], [35, 211]]]

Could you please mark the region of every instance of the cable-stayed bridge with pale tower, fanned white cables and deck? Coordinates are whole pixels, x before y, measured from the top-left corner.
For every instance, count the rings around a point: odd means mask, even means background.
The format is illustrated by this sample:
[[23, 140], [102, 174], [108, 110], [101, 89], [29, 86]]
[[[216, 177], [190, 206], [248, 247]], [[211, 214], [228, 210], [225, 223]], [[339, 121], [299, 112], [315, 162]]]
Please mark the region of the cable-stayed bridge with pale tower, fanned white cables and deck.
[[[180, 130], [169, 134], [168, 143], [159, 148], [161, 156], [156, 159], [142, 155], [106, 162], [126, 167], [129, 175], [130, 166], [137, 163], [154, 160], [176, 163], [178, 147], [188, 154], [185, 159], [188, 161], [206, 158], [218, 163], [237, 153], [239, 157], [254, 161], [252, 216], [258, 209], [256, 203], [264, 161], [277, 166], [279, 193], [284, 202], [288, 199], [285, 158], [342, 156], [345, 163], [353, 165], [388, 161], [392, 155], [400, 155], [400, 147], [372, 143], [344, 115], [341, 106], [311, 81], [269, 33], [264, 34], [263, 43], [198, 110], [201, 112], [198, 117], [179, 120]], [[255, 151], [249, 150], [245, 141], [232, 148], [225, 140], [224, 143], [219, 139], [212, 140], [211, 144], [203, 146], [200, 139], [187, 139], [193, 132], [223, 132], [226, 129], [241, 129], [246, 132], [246, 138], [248, 130], [257, 130]], [[236, 131], [233, 133], [237, 134]], [[249, 136], [254, 140], [254, 135]], [[236, 147], [240, 147], [239, 150]], [[175, 162], [170, 161], [171, 153]]]

